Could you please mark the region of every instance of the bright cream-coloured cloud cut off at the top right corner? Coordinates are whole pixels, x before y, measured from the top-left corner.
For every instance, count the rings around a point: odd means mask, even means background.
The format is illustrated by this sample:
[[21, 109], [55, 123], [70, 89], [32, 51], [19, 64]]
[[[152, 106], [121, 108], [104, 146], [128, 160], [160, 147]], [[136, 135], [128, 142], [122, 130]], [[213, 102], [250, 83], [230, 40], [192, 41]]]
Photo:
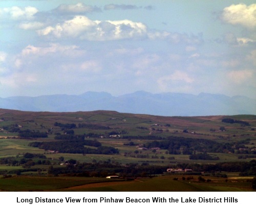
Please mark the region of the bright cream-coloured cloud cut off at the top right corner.
[[231, 25], [242, 25], [253, 29], [256, 27], [256, 4], [249, 6], [245, 4], [231, 5], [225, 7], [221, 19]]

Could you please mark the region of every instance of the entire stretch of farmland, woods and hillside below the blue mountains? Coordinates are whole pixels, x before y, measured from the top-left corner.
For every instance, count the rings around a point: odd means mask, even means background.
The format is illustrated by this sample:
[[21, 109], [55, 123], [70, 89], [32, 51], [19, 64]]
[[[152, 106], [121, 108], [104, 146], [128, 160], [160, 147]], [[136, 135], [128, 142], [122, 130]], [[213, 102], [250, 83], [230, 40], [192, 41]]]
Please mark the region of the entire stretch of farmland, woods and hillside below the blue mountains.
[[0, 109], [0, 190], [253, 191], [255, 128], [253, 115]]

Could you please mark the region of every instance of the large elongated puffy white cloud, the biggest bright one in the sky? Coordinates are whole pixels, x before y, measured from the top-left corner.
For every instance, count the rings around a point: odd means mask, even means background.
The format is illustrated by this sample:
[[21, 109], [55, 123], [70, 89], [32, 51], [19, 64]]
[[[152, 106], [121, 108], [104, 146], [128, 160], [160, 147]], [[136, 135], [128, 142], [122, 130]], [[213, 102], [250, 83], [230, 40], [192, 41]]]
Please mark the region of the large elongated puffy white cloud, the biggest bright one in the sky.
[[117, 40], [143, 37], [146, 35], [146, 26], [141, 22], [131, 20], [93, 21], [86, 16], [75, 16], [62, 24], [38, 30], [41, 36], [78, 37], [87, 40]]

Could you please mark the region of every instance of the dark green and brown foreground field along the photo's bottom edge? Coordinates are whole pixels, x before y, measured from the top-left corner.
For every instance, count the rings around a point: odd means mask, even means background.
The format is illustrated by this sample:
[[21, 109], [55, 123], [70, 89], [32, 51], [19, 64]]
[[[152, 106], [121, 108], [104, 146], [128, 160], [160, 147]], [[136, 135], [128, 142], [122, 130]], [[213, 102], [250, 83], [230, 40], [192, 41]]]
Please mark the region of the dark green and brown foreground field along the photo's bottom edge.
[[[174, 180], [176, 177], [178, 180]], [[182, 180], [183, 176], [158, 176], [135, 180], [84, 178], [84, 177], [42, 177], [17, 176], [0, 179], [2, 191], [126, 191], [126, 192], [187, 192], [187, 191], [253, 191], [249, 179], [234, 182], [231, 179], [205, 177], [209, 182]], [[185, 176], [187, 177], [187, 176]]]

